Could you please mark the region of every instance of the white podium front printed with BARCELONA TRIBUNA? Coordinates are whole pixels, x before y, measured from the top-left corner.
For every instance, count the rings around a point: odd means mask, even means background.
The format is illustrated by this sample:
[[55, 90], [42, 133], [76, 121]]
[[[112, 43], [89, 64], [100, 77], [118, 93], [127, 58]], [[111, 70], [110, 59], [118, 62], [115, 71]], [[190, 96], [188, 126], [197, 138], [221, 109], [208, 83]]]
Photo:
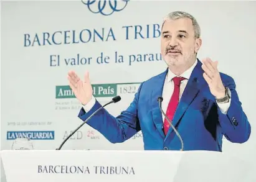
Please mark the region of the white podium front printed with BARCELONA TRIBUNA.
[[255, 182], [251, 163], [220, 152], [3, 150], [1, 158], [7, 182]]

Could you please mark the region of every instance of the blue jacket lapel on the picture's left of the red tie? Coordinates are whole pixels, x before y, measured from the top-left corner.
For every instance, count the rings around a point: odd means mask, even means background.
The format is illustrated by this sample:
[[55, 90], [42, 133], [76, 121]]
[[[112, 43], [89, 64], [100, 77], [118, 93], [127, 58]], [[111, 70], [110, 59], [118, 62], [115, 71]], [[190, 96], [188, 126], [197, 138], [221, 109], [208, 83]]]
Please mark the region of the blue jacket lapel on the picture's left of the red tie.
[[159, 131], [163, 138], [165, 137], [163, 132], [163, 117], [159, 108], [158, 97], [162, 96], [164, 80], [167, 73], [168, 69], [156, 77], [156, 80], [152, 85], [153, 91], [151, 94], [152, 117], [154, 125], [156, 125], [156, 129]]

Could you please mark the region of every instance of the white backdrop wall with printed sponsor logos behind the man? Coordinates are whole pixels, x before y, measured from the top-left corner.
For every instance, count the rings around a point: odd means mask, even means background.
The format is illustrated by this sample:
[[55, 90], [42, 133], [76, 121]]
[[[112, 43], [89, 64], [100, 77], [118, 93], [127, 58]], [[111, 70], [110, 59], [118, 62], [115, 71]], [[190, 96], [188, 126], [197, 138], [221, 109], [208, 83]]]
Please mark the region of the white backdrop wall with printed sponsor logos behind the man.
[[[166, 14], [181, 10], [191, 13], [201, 25], [199, 59], [218, 60], [219, 70], [234, 78], [252, 125], [247, 143], [225, 140], [223, 151], [251, 159], [256, 150], [255, 2], [118, 1], [117, 8], [125, 8], [110, 16], [91, 12], [83, 2], [1, 2], [1, 150], [11, 148], [14, 131], [50, 131], [47, 140], [32, 142], [35, 149], [55, 149], [81, 124], [77, 117], [80, 104], [67, 87], [69, 70], [82, 77], [85, 70], [90, 71], [102, 104], [119, 94], [121, 101], [107, 109], [115, 116], [120, 114], [132, 101], [138, 83], [166, 68], [163, 60], [156, 61], [159, 27]], [[98, 2], [90, 7], [96, 10]], [[110, 6], [103, 11], [108, 10]], [[116, 63], [115, 52], [123, 56], [123, 62]], [[101, 53], [109, 57], [109, 63], [97, 63]], [[143, 60], [145, 54], [153, 54], [154, 61]], [[77, 61], [77, 55], [87, 63], [71, 65], [71, 58]], [[140, 60], [140, 55], [142, 61], [132, 61], [135, 57]], [[138, 134], [125, 143], [111, 144], [84, 125], [63, 149], [143, 150], [143, 141]]]

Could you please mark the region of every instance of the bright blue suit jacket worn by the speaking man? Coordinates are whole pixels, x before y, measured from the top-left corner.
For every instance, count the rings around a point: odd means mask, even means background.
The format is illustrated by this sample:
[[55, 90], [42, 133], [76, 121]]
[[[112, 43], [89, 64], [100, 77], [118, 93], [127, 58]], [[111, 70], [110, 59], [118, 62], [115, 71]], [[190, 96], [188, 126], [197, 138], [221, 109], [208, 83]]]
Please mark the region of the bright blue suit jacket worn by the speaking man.
[[[230, 142], [247, 141], [251, 132], [250, 124], [235, 91], [234, 80], [220, 73], [224, 86], [231, 91], [229, 110], [227, 114], [222, 114], [202, 76], [204, 71], [201, 65], [198, 60], [172, 122], [183, 139], [184, 150], [222, 151], [223, 135]], [[180, 150], [181, 142], [171, 127], [164, 135], [158, 104], [167, 72], [141, 83], [133, 102], [119, 116], [111, 116], [106, 109], [102, 109], [87, 124], [112, 143], [125, 142], [141, 130], [145, 150]], [[85, 121], [101, 106], [96, 101], [89, 112], [82, 108], [78, 117]]]

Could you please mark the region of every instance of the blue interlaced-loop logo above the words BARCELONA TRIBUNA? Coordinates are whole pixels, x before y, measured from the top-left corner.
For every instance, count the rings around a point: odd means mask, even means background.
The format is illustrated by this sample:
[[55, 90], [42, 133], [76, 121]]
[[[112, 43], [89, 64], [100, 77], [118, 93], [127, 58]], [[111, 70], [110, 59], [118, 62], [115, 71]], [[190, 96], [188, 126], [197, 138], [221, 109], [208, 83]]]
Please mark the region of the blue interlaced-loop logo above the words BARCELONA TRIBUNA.
[[129, 0], [105, 0], [105, 1], [84, 1], [83, 4], [87, 5], [90, 12], [100, 13], [103, 16], [110, 16], [113, 12], [119, 12], [125, 9]]

